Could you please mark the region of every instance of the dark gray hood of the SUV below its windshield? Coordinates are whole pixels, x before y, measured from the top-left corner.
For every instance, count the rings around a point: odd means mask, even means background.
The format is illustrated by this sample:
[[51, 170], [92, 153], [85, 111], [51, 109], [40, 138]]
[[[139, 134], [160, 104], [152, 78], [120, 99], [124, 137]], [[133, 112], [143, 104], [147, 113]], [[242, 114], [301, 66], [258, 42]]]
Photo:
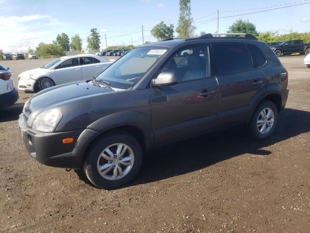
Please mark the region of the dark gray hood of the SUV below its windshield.
[[[75, 82], [54, 86], [38, 92], [25, 104], [31, 110], [31, 118], [47, 109], [61, 107], [63, 104], [77, 100], [104, 95], [113, 90], [94, 86], [91, 82]], [[32, 119], [33, 120], [33, 119]]]

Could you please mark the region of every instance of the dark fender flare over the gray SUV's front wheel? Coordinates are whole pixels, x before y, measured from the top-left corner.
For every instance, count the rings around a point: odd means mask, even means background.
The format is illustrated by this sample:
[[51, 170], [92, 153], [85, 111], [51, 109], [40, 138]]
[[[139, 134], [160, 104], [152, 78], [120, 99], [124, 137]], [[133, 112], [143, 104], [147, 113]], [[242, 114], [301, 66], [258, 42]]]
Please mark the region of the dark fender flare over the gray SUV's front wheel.
[[133, 126], [138, 128], [144, 136], [145, 149], [150, 150], [154, 147], [154, 135], [150, 118], [138, 111], [124, 111], [104, 116], [87, 128], [104, 133], [108, 130]]

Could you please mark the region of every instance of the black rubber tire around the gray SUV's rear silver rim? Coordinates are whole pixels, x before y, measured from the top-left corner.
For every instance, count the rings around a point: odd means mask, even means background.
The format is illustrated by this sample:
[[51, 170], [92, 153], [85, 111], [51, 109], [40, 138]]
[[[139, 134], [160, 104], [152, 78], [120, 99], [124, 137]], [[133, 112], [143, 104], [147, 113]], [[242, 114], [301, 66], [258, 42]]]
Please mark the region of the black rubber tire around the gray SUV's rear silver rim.
[[[259, 117], [261, 117], [260, 116], [261, 112], [263, 111], [263, 109], [266, 109], [266, 108], [272, 109], [273, 114], [274, 114], [274, 121], [273, 121], [272, 127], [269, 129], [268, 132], [261, 133], [259, 131], [257, 124], [258, 124]], [[248, 127], [247, 127], [248, 128], [248, 135], [254, 139], [257, 139], [257, 140], [267, 139], [268, 137], [271, 136], [271, 134], [276, 129], [276, 126], [278, 123], [278, 116], [279, 116], [279, 114], [278, 114], [278, 108], [277, 108], [276, 104], [272, 101], [269, 101], [269, 100], [263, 100], [263, 102], [261, 102], [257, 106], [257, 108], [255, 109], [253, 116], [252, 116], [250, 122], [248, 123]]]

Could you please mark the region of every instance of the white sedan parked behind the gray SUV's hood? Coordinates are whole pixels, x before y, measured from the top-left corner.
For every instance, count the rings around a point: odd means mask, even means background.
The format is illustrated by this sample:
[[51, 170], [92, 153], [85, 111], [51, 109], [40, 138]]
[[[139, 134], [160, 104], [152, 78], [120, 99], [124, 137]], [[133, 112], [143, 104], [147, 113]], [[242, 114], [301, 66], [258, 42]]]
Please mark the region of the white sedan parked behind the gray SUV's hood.
[[18, 89], [40, 91], [62, 83], [90, 80], [114, 61], [93, 54], [60, 57], [43, 67], [19, 74]]

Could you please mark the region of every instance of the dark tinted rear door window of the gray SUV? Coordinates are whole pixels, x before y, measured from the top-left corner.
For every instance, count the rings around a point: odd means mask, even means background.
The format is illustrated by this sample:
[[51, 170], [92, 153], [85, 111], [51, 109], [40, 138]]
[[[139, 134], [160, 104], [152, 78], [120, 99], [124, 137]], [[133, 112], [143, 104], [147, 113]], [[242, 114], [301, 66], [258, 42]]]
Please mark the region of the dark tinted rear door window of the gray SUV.
[[229, 74], [253, 68], [252, 58], [243, 44], [214, 44], [217, 74]]

